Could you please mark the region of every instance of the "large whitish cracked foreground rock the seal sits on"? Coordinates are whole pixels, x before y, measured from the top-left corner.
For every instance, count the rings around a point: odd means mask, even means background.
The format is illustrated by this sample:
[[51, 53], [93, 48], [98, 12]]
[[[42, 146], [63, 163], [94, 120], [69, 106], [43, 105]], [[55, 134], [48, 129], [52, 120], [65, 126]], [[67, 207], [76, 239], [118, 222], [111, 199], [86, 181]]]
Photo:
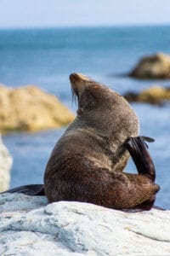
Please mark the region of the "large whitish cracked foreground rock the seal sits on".
[[0, 195], [0, 255], [170, 255], [170, 212]]

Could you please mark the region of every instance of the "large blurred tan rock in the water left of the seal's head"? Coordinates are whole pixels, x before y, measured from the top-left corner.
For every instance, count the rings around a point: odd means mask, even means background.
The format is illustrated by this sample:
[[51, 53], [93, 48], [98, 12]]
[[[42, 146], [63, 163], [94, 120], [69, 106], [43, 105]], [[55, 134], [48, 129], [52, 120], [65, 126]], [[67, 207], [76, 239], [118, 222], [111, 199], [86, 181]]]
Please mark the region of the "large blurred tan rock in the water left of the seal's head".
[[67, 125], [73, 113], [34, 85], [0, 86], [0, 131], [39, 131]]

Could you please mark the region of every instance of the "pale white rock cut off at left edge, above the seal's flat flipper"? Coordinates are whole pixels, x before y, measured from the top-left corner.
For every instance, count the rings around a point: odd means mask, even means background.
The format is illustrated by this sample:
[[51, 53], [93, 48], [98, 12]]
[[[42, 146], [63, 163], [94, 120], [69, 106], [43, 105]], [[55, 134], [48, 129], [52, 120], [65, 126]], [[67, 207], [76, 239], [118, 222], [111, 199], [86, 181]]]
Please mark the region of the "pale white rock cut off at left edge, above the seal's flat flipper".
[[8, 189], [13, 160], [0, 135], [0, 192]]

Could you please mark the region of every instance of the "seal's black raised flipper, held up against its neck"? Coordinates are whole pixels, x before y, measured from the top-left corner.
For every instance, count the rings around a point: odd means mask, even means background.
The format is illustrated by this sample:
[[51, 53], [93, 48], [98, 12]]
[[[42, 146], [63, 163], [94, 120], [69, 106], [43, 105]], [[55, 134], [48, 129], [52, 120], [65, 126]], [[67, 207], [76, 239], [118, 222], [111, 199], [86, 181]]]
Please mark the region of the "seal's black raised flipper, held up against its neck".
[[150, 139], [149, 137], [129, 137], [124, 143], [124, 147], [131, 154], [138, 172], [149, 177], [154, 182], [156, 179], [155, 166], [147, 150], [146, 143], [144, 143], [144, 140], [153, 141]]

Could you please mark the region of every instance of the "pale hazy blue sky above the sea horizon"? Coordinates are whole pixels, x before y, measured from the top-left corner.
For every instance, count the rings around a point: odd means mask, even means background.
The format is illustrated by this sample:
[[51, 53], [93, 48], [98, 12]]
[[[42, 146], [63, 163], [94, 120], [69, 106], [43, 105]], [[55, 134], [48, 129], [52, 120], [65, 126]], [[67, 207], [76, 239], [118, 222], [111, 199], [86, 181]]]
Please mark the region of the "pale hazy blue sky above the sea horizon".
[[170, 0], [0, 0], [0, 27], [170, 24]]

